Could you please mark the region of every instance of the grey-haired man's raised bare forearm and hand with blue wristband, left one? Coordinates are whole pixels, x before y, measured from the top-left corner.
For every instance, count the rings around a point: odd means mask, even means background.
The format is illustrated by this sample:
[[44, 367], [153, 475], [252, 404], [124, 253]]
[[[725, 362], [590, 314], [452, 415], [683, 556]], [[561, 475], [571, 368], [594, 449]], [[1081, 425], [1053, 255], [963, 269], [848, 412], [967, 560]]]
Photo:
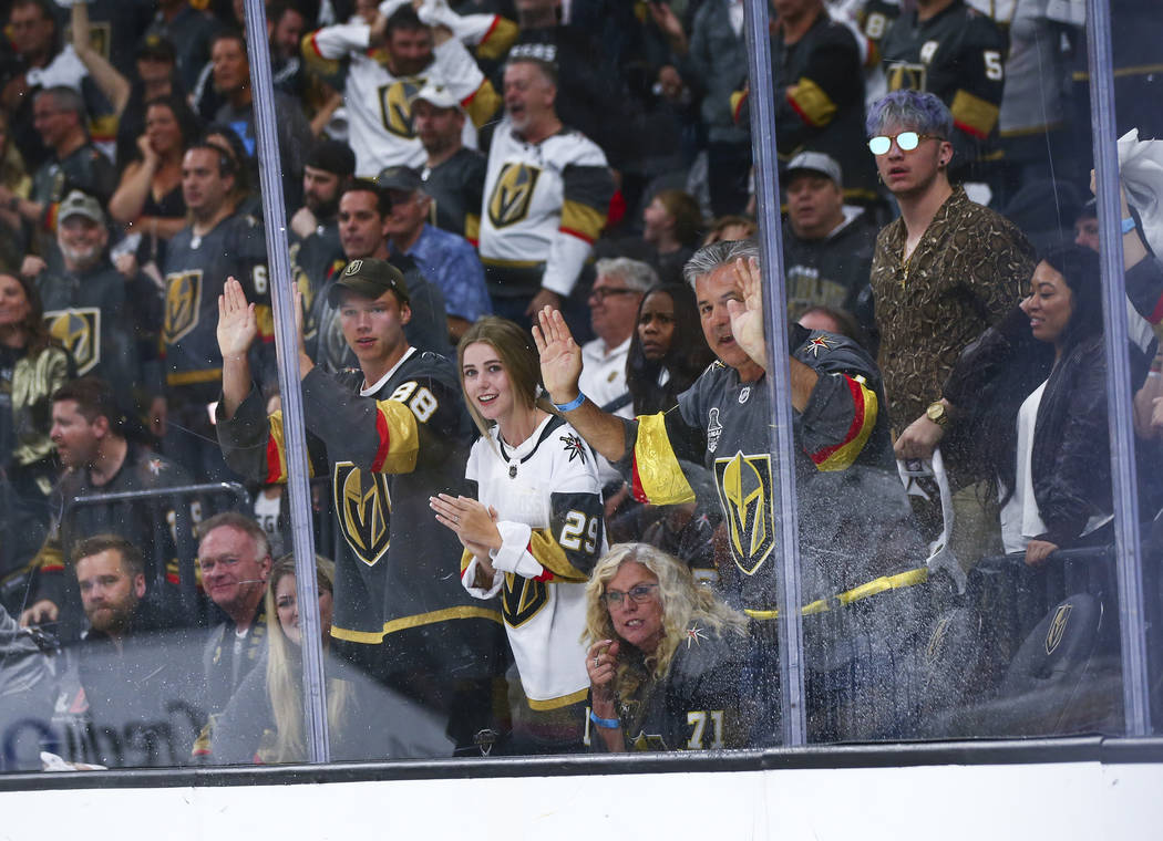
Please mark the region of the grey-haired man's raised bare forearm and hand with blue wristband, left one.
[[533, 340], [541, 355], [541, 379], [549, 398], [586, 443], [612, 462], [626, 455], [626, 426], [604, 412], [578, 389], [582, 348], [573, 340], [561, 310], [545, 307], [537, 314]]

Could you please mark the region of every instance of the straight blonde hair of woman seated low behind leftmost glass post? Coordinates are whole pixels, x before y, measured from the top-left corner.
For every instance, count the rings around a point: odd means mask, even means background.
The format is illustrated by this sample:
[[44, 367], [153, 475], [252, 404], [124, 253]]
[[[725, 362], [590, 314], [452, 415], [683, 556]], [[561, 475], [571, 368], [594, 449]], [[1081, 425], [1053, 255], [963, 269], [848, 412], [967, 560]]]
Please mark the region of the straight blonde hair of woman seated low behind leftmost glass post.
[[[304, 762], [307, 759], [302, 723], [302, 653], [283, 632], [274, 604], [279, 581], [294, 574], [294, 555], [284, 555], [271, 568], [271, 580], [266, 587], [266, 692], [271, 699], [277, 734], [274, 745], [262, 756], [264, 762]], [[334, 595], [335, 563], [322, 555], [315, 555], [315, 575], [319, 589]], [[327, 725], [333, 732], [342, 726], [350, 698], [351, 684], [334, 677], [327, 681]]]

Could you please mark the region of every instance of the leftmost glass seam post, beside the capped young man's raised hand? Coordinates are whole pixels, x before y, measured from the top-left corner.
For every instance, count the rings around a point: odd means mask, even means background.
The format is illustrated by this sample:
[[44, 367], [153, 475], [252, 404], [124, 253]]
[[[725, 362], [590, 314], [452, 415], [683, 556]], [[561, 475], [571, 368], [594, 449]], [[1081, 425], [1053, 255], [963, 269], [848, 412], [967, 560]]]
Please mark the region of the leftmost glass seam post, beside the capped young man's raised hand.
[[[299, 337], [295, 330], [294, 297], [291, 287], [286, 206], [283, 197], [279, 141], [274, 122], [274, 87], [271, 80], [271, 53], [266, 38], [266, 9], [263, 0], [245, 0], [245, 7], [250, 89], [254, 94], [255, 128], [258, 132], [258, 178], [263, 191], [267, 276], [274, 315], [274, 347], [278, 353], [283, 431], [287, 451], [291, 546], [295, 558], [295, 595], [299, 601], [301, 628], [307, 756], [312, 762], [328, 762], [330, 746], [327, 735], [327, 698], [323, 693], [323, 646], [315, 583], [315, 548], [311, 531], [311, 495], [307, 489], [307, 436], [302, 417], [302, 393], [299, 387]], [[274, 618], [271, 620], [277, 621]]]

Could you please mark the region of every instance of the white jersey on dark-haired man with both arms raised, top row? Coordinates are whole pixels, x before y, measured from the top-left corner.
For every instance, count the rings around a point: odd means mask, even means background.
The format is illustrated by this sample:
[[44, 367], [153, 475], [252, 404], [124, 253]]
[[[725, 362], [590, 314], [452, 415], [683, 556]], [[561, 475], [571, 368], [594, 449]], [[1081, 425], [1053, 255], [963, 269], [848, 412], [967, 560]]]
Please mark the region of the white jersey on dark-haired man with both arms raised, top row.
[[[476, 125], [491, 115], [498, 99], [472, 56], [456, 38], [433, 49], [433, 63], [421, 73], [397, 77], [370, 48], [371, 28], [364, 22], [323, 27], [309, 36], [315, 57], [324, 62], [348, 58], [343, 101], [348, 112], [348, 144], [356, 153], [356, 174], [376, 178], [388, 166], [423, 166], [424, 148], [412, 130], [411, 99], [424, 85], [444, 86], [464, 106], [465, 145], [477, 145]], [[309, 56], [309, 52], [308, 52]], [[487, 86], [487, 95], [476, 100]]]

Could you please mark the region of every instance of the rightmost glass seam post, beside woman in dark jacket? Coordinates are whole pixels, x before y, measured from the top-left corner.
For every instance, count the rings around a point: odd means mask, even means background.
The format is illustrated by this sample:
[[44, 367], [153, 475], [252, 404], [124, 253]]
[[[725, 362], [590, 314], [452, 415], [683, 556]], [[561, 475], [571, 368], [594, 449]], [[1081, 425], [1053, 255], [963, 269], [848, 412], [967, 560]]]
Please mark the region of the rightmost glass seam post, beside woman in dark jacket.
[[1147, 674], [1147, 625], [1143, 612], [1139, 508], [1135, 499], [1135, 447], [1130, 423], [1130, 364], [1127, 358], [1126, 267], [1122, 260], [1119, 218], [1119, 156], [1115, 146], [1111, 8], [1106, 0], [1086, 0], [1086, 36], [1097, 175], [1096, 199], [1103, 246], [1100, 257], [1107, 359], [1106, 394], [1111, 434], [1123, 719], [1127, 735], [1143, 736], [1149, 734], [1151, 728], [1150, 683]]

